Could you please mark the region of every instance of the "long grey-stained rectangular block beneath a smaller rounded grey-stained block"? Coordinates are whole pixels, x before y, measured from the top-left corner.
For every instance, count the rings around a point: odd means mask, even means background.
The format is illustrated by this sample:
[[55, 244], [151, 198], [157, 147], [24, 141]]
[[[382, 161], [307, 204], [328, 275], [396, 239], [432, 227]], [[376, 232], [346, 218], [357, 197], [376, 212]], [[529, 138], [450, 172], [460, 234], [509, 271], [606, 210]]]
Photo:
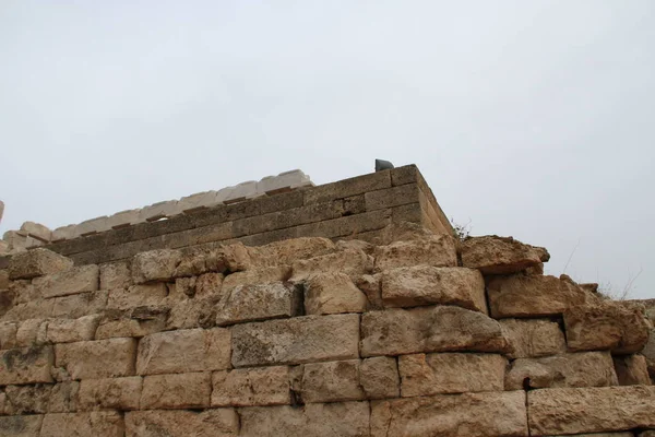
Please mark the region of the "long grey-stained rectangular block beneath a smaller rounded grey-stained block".
[[231, 332], [235, 367], [358, 357], [359, 315], [267, 320]]

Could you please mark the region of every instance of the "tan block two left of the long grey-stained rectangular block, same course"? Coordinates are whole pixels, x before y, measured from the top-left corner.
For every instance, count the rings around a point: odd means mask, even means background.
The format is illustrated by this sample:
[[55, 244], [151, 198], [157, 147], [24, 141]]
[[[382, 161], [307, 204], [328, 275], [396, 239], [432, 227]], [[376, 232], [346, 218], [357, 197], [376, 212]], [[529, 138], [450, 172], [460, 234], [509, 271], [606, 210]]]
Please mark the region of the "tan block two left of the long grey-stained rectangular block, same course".
[[72, 379], [102, 379], [134, 375], [136, 341], [109, 339], [55, 345], [55, 365]]

